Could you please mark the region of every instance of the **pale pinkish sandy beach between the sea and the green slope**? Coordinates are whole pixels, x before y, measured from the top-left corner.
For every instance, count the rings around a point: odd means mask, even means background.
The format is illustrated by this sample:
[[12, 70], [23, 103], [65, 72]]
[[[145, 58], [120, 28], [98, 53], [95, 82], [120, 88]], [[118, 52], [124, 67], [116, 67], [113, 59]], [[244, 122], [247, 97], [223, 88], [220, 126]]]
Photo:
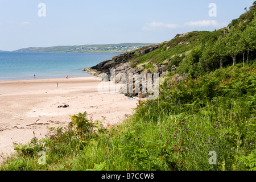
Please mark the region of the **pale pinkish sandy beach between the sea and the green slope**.
[[[66, 126], [70, 115], [86, 111], [88, 119], [107, 126], [133, 113], [137, 100], [98, 92], [101, 83], [97, 77], [0, 81], [0, 163], [14, 142], [44, 138], [48, 127]], [[58, 108], [64, 104], [69, 107]]]

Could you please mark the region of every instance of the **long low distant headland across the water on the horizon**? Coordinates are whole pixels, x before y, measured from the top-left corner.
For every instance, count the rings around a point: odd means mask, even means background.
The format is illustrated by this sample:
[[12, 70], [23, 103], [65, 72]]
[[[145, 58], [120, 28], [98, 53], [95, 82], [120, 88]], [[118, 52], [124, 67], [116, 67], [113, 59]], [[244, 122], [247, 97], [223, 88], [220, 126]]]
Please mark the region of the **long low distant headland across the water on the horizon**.
[[83, 46], [53, 46], [53, 47], [29, 47], [13, 52], [108, 52], [123, 53], [138, 48], [150, 46], [151, 43], [122, 43], [122, 44], [93, 44]]

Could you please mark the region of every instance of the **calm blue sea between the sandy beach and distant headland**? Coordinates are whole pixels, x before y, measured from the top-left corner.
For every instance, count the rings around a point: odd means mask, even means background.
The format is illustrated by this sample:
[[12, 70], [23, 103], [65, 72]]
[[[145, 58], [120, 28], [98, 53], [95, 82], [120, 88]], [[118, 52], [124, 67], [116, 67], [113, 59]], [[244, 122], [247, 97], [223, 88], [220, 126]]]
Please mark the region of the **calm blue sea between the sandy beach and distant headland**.
[[0, 52], [0, 80], [91, 76], [82, 69], [118, 54]]

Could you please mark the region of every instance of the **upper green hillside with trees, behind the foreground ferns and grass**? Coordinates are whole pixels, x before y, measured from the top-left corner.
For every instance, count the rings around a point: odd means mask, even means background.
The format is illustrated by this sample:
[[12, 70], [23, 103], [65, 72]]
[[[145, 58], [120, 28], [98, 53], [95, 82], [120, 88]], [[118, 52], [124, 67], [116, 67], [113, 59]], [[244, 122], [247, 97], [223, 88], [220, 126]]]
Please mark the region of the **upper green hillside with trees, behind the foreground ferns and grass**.
[[[216, 31], [193, 31], [176, 35], [169, 42], [159, 44], [160, 48], [130, 60], [134, 68], [146, 69], [150, 65], [167, 64], [166, 71], [176, 65], [176, 73], [188, 73], [193, 78], [205, 72], [222, 69], [243, 61], [243, 67], [255, 56], [256, 45], [256, 3], [240, 18], [233, 20], [228, 27]], [[179, 57], [182, 57], [180, 59]]]

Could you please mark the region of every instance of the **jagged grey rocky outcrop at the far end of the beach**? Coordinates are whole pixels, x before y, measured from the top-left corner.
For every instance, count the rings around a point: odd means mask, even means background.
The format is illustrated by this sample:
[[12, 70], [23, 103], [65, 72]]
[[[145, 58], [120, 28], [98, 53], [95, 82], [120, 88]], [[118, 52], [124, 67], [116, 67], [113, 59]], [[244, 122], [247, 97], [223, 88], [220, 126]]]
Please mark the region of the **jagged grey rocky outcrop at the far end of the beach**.
[[[131, 67], [129, 61], [135, 59], [135, 56], [137, 57], [145, 55], [149, 52], [158, 49], [159, 47], [160, 46], [158, 45], [144, 47], [141, 49], [137, 49], [136, 51], [126, 52], [121, 55], [113, 56], [110, 60], [102, 61], [94, 67], [82, 69], [82, 71], [87, 71], [89, 74], [98, 77], [104, 77], [104, 80], [106, 78], [105, 76], [107, 75], [107, 79], [109, 79], [109, 81], [114, 81], [115, 84], [121, 84], [119, 93], [123, 93], [125, 94], [125, 96], [128, 97], [137, 96], [138, 93], [143, 90], [144, 85], [147, 85], [147, 81], [152, 81], [151, 86], [147, 86], [146, 88], [147, 92], [142, 92], [141, 94], [141, 97], [148, 97], [150, 94], [152, 94], [151, 90], [154, 90], [155, 86], [155, 75], [152, 73], [157, 73], [158, 76], [167, 75], [169, 71], [166, 71], [166, 68], [168, 64], [171, 64], [171, 60], [163, 61], [162, 65], [153, 64], [153, 67], [150, 69], [144, 69], [143, 65], [140, 68], [135, 69]], [[114, 75], [113, 72], [111, 73], [112, 69], [114, 70]], [[177, 67], [175, 65], [172, 65], [171, 71], [175, 71], [175, 69], [177, 69]], [[129, 80], [130, 73], [133, 74], [132, 81]], [[148, 75], [149, 73], [151, 73], [151, 78], [148, 77], [150, 76]], [[145, 75], [146, 79], [144, 78]], [[114, 76], [114, 79], [111, 76]], [[175, 75], [172, 81], [179, 82], [182, 79], [182, 76]]]

